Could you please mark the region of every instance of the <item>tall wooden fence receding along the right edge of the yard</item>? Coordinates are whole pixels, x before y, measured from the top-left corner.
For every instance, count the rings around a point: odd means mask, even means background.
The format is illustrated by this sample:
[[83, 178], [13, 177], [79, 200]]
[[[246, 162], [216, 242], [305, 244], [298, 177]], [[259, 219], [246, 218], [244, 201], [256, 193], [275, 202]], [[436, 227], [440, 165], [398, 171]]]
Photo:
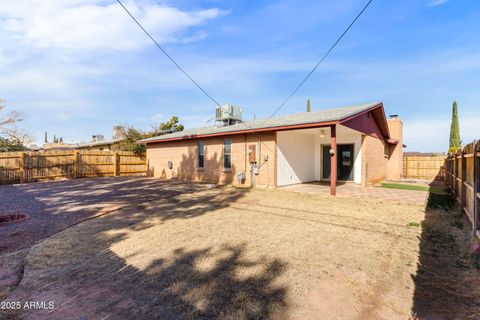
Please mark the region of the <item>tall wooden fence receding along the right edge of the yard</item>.
[[480, 237], [480, 141], [449, 154], [446, 167], [445, 181]]

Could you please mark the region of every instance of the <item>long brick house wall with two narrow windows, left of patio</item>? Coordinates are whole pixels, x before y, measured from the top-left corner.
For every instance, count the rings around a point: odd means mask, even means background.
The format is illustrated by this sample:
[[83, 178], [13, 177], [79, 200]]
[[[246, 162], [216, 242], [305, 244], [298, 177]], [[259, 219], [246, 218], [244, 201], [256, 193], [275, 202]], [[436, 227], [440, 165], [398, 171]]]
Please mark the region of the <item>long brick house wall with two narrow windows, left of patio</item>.
[[[223, 141], [232, 140], [232, 169], [223, 168]], [[205, 166], [197, 166], [197, 143], [205, 143]], [[204, 181], [219, 184], [239, 185], [237, 174], [245, 172], [242, 186], [251, 185], [248, 148], [255, 145], [259, 174], [254, 175], [257, 186], [276, 186], [276, 133], [237, 134], [205, 139], [151, 143], [147, 145], [147, 163], [154, 177], [161, 179]], [[265, 160], [268, 156], [268, 160]], [[172, 161], [173, 169], [168, 168]]]

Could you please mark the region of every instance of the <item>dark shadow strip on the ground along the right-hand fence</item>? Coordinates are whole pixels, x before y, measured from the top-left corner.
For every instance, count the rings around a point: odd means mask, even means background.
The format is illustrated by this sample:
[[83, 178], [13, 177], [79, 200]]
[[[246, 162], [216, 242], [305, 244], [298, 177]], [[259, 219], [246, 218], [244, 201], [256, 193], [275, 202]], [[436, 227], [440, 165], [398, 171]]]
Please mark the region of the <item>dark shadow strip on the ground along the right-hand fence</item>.
[[[431, 187], [446, 188], [438, 180]], [[413, 315], [422, 320], [479, 319], [480, 270], [468, 254], [470, 227], [451, 194], [430, 192], [421, 228]]]

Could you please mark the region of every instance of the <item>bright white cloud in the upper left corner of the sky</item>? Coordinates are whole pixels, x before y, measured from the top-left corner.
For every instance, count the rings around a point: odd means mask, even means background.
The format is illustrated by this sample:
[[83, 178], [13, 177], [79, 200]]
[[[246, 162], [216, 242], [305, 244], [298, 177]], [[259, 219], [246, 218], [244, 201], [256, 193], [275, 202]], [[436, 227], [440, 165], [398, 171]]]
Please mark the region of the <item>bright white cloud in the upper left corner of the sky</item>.
[[[128, 50], [151, 45], [116, 3], [20, 0], [0, 7], [0, 30], [21, 43], [67, 50]], [[191, 42], [206, 34], [188, 29], [226, 14], [218, 8], [182, 11], [166, 5], [126, 1], [126, 6], [159, 42]], [[35, 14], [32, 14], [35, 12]]]

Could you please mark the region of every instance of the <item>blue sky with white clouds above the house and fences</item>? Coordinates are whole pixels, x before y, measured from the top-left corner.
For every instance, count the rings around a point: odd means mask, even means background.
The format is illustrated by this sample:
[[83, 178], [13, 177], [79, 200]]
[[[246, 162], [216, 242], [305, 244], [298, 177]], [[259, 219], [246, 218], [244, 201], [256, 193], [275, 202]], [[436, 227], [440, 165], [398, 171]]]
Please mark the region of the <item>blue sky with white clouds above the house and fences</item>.
[[[366, 1], [143, 1], [125, 5], [221, 103], [267, 117]], [[408, 150], [448, 148], [451, 104], [462, 140], [479, 138], [480, 2], [374, 0], [280, 111], [382, 101]], [[24, 127], [67, 142], [149, 129], [178, 115], [203, 126], [215, 106], [114, 0], [16, 0], [0, 6], [0, 98]]]

